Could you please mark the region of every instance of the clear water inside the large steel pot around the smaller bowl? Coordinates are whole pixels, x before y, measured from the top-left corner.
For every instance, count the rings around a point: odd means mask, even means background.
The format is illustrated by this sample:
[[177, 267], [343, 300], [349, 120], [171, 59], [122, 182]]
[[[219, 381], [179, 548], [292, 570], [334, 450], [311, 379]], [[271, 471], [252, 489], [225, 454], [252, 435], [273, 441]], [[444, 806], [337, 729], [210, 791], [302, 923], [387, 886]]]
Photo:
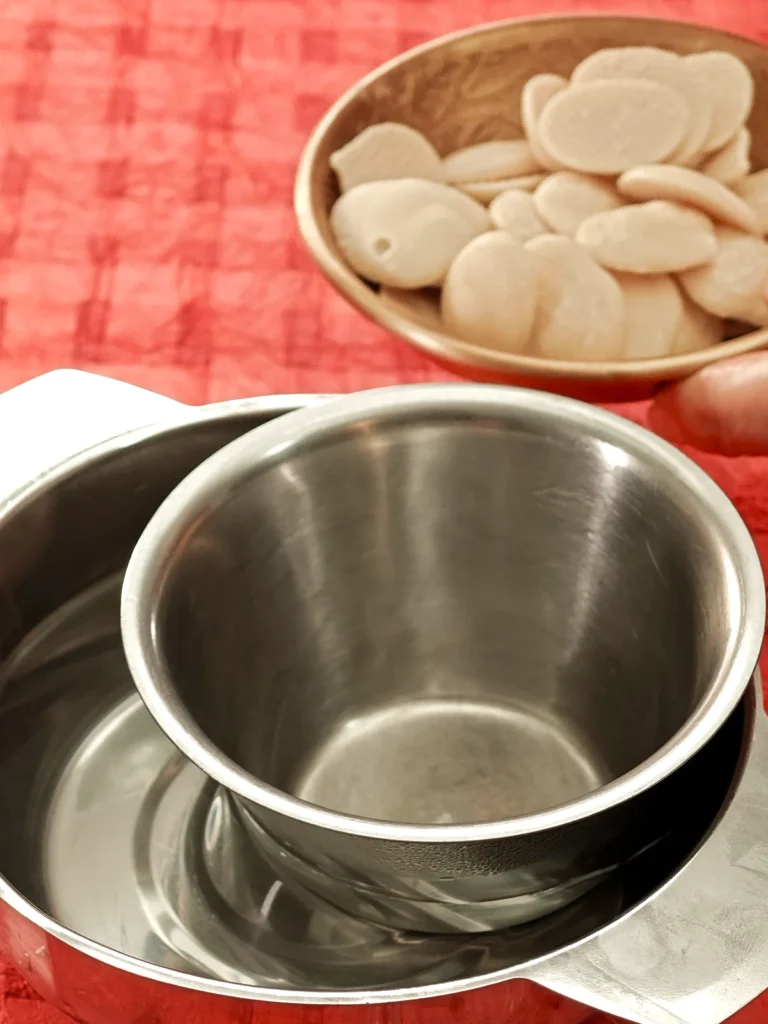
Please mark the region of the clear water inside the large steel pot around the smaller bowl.
[[20, 836], [0, 838], [0, 865], [57, 921], [152, 964], [283, 992], [413, 987], [525, 964], [610, 923], [674, 870], [735, 770], [743, 713], [717, 759], [712, 750], [700, 762], [714, 784], [664, 849], [546, 922], [487, 937], [406, 936], [287, 889], [265, 862], [250, 876], [232, 870], [232, 844], [244, 838], [230, 798], [135, 693], [121, 582], [118, 573], [65, 604], [5, 664], [0, 811]]

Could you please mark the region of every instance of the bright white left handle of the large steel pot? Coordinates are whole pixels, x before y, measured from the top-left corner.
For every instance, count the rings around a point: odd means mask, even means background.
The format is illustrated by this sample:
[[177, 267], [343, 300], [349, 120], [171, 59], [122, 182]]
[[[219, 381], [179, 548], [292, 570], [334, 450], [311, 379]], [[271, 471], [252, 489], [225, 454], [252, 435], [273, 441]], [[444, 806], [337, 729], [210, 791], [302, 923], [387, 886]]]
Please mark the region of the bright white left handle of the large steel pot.
[[0, 489], [11, 495], [70, 456], [188, 407], [79, 370], [54, 370], [0, 394]]

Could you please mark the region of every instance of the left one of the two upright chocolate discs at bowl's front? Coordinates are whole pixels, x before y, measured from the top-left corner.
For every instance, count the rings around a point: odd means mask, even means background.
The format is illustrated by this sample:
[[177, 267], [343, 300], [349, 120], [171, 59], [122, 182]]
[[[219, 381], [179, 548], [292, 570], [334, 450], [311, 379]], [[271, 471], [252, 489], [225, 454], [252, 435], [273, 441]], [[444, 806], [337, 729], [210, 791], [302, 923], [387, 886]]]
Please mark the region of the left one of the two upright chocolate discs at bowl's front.
[[451, 264], [442, 286], [442, 319], [473, 345], [522, 352], [537, 305], [534, 257], [505, 231], [470, 242]]

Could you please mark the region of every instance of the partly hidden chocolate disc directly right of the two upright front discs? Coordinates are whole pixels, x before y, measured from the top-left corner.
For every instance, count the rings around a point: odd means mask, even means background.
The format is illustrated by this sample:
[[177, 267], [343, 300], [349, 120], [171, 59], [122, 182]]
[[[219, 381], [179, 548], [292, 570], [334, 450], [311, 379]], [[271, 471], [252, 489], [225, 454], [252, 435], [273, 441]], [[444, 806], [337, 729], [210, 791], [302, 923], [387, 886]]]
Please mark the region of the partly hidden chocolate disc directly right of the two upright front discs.
[[617, 273], [624, 293], [625, 359], [656, 359], [672, 352], [680, 328], [683, 299], [669, 274]]

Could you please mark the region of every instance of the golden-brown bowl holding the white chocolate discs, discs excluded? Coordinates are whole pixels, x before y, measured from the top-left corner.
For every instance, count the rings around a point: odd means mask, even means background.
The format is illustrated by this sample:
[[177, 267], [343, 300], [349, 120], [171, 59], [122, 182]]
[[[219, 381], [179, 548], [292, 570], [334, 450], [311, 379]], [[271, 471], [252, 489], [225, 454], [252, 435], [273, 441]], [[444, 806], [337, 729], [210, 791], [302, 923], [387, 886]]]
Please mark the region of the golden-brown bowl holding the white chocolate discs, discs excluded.
[[304, 242], [326, 276], [372, 319], [466, 377], [592, 400], [641, 397], [710, 362], [768, 346], [768, 329], [763, 329], [688, 355], [654, 359], [580, 362], [500, 352], [446, 333], [428, 303], [412, 308], [383, 301], [339, 253], [329, 224], [339, 195], [329, 157], [364, 128], [399, 121], [422, 131], [443, 155], [473, 142], [522, 136], [519, 97], [531, 75], [568, 76], [594, 50], [625, 45], [678, 53], [729, 50], [744, 60], [756, 86], [750, 121], [753, 164], [768, 166], [768, 47], [760, 43], [658, 18], [575, 15], [483, 25], [383, 65], [349, 89], [315, 128], [299, 163], [295, 206]]

